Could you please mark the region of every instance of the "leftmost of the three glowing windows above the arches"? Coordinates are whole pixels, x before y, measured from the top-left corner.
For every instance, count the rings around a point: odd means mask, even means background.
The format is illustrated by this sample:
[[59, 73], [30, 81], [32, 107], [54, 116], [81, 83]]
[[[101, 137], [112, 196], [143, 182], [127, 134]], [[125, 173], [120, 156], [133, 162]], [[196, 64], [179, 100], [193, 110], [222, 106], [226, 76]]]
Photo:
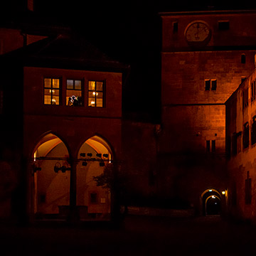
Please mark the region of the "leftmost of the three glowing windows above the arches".
[[60, 105], [60, 79], [45, 78], [44, 87], [44, 104]]

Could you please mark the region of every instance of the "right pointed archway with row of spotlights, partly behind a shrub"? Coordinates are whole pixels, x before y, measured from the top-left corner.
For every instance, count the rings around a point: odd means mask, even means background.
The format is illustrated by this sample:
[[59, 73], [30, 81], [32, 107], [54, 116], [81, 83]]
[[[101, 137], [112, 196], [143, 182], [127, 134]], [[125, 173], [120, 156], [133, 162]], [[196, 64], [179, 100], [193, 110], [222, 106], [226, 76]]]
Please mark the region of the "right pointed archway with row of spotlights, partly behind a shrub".
[[112, 161], [110, 145], [101, 137], [94, 136], [82, 144], [78, 152], [77, 206], [80, 220], [88, 218], [110, 218], [110, 191], [99, 187], [94, 176], [103, 173]]

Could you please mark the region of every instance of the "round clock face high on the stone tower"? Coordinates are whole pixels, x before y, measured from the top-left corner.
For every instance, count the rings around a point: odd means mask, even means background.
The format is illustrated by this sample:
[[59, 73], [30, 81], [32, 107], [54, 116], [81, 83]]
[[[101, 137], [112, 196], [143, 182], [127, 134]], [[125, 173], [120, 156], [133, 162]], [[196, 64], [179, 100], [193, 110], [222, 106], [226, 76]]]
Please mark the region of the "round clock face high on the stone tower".
[[204, 21], [193, 21], [185, 30], [185, 38], [190, 46], [206, 46], [210, 41], [210, 28]]

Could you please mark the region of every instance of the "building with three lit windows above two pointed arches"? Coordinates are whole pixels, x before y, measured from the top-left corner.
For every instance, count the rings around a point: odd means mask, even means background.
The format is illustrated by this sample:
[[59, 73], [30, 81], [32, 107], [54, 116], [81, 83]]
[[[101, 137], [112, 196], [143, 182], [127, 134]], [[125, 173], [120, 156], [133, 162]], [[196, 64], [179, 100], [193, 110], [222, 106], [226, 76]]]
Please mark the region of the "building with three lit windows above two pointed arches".
[[72, 34], [28, 43], [24, 33], [0, 33], [9, 46], [1, 55], [0, 215], [110, 219], [112, 195], [93, 177], [122, 159], [128, 66]]

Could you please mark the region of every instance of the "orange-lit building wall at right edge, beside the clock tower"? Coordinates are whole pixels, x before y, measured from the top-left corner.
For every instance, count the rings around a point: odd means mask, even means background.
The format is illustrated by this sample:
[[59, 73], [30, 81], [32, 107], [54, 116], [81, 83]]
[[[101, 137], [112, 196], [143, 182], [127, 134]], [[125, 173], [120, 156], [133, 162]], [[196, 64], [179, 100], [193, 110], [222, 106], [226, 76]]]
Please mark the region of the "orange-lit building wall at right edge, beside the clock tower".
[[255, 223], [255, 71], [226, 102], [229, 213]]

